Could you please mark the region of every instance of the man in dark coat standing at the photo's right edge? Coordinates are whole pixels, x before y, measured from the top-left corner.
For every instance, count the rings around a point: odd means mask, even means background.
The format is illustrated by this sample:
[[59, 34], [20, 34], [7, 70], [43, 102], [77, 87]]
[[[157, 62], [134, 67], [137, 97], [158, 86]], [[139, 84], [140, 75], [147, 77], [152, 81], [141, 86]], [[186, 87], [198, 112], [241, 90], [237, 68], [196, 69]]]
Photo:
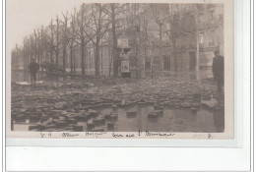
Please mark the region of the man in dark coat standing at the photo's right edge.
[[222, 92], [224, 87], [224, 57], [220, 55], [220, 51], [215, 51], [213, 62], [213, 74], [217, 83], [218, 91]]

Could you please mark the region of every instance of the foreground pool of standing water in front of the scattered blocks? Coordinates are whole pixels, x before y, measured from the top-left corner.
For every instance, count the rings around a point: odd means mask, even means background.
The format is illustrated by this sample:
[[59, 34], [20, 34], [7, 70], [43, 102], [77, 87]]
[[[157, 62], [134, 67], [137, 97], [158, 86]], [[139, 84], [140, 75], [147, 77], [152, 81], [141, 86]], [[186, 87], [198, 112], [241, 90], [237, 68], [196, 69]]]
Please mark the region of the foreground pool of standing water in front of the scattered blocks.
[[[190, 109], [164, 109], [162, 115], [151, 118], [149, 114], [154, 111], [153, 106], [134, 106], [130, 108], [118, 108], [117, 119], [105, 120], [96, 124], [93, 129], [88, 128], [88, 123], [92, 123], [94, 118], [87, 122], [78, 122], [76, 126], [82, 127], [82, 131], [114, 131], [114, 132], [176, 132], [176, 133], [221, 133], [224, 132], [224, 110], [208, 111], [201, 109], [191, 111]], [[100, 116], [105, 117], [112, 112], [112, 108], [105, 108], [99, 111]], [[129, 116], [126, 112], [133, 112]], [[113, 126], [109, 129], [107, 126]], [[39, 123], [37, 123], [39, 124]], [[29, 127], [36, 125], [25, 120], [23, 123], [13, 124], [14, 131], [29, 131]], [[72, 124], [74, 126], [74, 124]], [[55, 128], [51, 131], [73, 131], [71, 124], [66, 124], [62, 128]], [[34, 131], [34, 130], [33, 130]]]

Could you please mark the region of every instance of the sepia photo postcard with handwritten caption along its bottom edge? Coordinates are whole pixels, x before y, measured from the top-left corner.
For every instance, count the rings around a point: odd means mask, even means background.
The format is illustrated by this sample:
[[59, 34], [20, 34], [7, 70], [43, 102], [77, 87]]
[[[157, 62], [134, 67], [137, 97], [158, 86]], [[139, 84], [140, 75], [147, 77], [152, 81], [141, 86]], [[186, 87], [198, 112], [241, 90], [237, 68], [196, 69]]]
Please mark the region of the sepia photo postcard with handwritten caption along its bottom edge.
[[6, 0], [6, 137], [233, 140], [233, 40], [232, 0]]

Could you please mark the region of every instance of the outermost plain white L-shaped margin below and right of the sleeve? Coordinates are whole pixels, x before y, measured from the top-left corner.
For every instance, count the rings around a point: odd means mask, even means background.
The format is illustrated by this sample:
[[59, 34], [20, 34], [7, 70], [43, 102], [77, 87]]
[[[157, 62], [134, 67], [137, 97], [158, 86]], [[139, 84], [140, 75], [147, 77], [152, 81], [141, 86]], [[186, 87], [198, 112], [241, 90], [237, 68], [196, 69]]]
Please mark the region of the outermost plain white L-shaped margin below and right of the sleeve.
[[[242, 63], [235, 61], [240, 69], [235, 74], [235, 114], [242, 114], [243, 126], [238, 135], [243, 140], [240, 148], [222, 147], [32, 147], [7, 146], [7, 170], [250, 170], [250, 18], [249, 0], [236, 0], [236, 8], [243, 9], [243, 16], [235, 13], [235, 33], [239, 30], [235, 44], [235, 56], [242, 57]], [[239, 11], [240, 12], [240, 11]], [[243, 18], [242, 18], [243, 17]], [[242, 29], [241, 29], [242, 28]], [[241, 31], [242, 30], [242, 31]], [[243, 33], [241, 36], [241, 32]], [[242, 46], [240, 43], [242, 42]], [[241, 52], [241, 47], [243, 51]], [[241, 56], [240, 56], [241, 55]], [[239, 59], [239, 60], [240, 60]], [[238, 61], [239, 61], [238, 60]], [[241, 62], [241, 61], [239, 61]], [[242, 66], [242, 67], [241, 67]], [[238, 72], [238, 71], [236, 71]], [[241, 72], [241, 73], [240, 73]], [[238, 76], [237, 76], [238, 75]], [[238, 77], [238, 78], [237, 78]], [[242, 87], [242, 92], [240, 91]], [[238, 90], [237, 90], [238, 89]], [[241, 109], [241, 105], [243, 108]], [[241, 116], [241, 115], [239, 115]], [[242, 132], [240, 129], [243, 129]], [[70, 140], [71, 141], [71, 140]], [[68, 141], [68, 142], [70, 142]], [[63, 142], [63, 141], [62, 141]], [[183, 141], [184, 142], [184, 141]], [[241, 141], [239, 140], [239, 143]]]

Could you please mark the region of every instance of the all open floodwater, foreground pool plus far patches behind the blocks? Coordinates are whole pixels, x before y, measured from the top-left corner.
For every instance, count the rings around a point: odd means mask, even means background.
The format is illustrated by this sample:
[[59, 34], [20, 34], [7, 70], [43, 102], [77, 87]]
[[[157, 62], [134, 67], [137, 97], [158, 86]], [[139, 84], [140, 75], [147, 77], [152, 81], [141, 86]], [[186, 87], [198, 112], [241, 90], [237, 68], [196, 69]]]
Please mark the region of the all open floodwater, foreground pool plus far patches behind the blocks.
[[[208, 73], [200, 78], [208, 78]], [[43, 80], [45, 76], [38, 74], [38, 80]], [[198, 74], [192, 73], [169, 73], [167, 77], [176, 78], [178, 80], [197, 80]], [[12, 73], [12, 82], [28, 82], [30, 81], [29, 73], [14, 72]], [[99, 117], [102, 122], [95, 124], [94, 118], [86, 121], [77, 120], [70, 124], [65, 121], [65, 117], [60, 116], [61, 127], [51, 124], [50, 128], [43, 128], [42, 131], [114, 131], [114, 132], [190, 132], [190, 133], [220, 133], [224, 132], [224, 110], [207, 110], [198, 109], [191, 111], [187, 108], [164, 108], [162, 114], [158, 116], [149, 116], [154, 111], [153, 106], [140, 106], [117, 108], [114, 119], [106, 118], [113, 111], [112, 107], [104, 109], [96, 109], [99, 111]], [[133, 115], [127, 115], [127, 112], [133, 112]], [[97, 118], [97, 117], [95, 117]], [[74, 118], [72, 118], [74, 119]], [[47, 119], [50, 121], [51, 119]], [[83, 121], [83, 122], [82, 122]], [[89, 125], [93, 127], [89, 127]], [[14, 131], [39, 131], [36, 126], [45, 125], [39, 119], [20, 119], [12, 125]], [[110, 126], [110, 127], [109, 127]]]

